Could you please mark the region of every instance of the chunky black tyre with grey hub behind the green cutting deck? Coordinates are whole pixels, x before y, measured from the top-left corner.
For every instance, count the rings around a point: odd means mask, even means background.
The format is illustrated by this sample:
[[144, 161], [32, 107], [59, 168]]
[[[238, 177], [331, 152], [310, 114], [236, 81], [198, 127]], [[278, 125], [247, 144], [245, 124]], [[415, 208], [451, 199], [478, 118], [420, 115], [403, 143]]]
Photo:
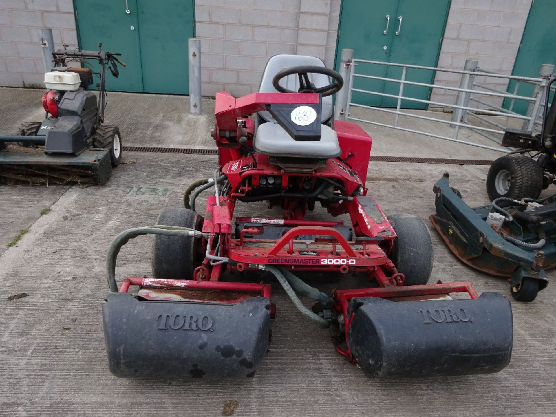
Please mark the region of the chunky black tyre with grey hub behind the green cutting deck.
[[505, 155], [492, 163], [486, 175], [490, 200], [499, 197], [539, 198], [543, 189], [543, 170], [533, 158]]

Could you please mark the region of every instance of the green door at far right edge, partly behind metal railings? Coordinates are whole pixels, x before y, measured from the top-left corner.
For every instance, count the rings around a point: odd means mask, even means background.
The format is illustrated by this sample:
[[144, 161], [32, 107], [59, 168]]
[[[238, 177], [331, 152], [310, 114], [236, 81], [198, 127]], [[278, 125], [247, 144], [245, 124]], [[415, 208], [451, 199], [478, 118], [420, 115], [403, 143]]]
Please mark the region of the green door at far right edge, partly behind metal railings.
[[[556, 34], [554, 18], [556, 17], [554, 0], [534, 0], [525, 24], [522, 41], [515, 58], [512, 75], [521, 77], [538, 77], [542, 64], [556, 65], [556, 48], [554, 35]], [[515, 81], [510, 81], [508, 92], [513, 93]], [[531, 97], [534, 86], [520, 83], [518, 95]], [[511, 100], [504, 101], [504, 108], [509, 108]], [[528, 103], [515, 101], [512, 111], [525, 115]]]

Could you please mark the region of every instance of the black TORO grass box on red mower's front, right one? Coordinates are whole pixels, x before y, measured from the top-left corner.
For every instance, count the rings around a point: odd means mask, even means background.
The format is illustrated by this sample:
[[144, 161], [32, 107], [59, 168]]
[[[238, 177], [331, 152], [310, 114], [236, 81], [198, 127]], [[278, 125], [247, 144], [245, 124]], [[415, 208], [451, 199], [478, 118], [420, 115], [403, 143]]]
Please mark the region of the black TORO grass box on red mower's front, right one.
[[512, 355], [508, 300], [390, 301], [354, 298], [347, 344], [370, 378], [495, 373]]

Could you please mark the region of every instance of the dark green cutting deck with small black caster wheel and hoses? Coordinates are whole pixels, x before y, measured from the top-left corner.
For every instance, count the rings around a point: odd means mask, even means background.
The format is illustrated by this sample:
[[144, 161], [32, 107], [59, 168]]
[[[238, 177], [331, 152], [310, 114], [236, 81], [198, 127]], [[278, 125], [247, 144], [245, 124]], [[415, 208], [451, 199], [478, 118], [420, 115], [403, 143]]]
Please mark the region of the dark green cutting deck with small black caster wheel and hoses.
[[450, 187], [449, 175], [433, 187], [435, 229], [465, 264], [507, 277], [518, 301], [533, 301], [548, 284], [545, 270], [556, 266], [556, 195], [534, 200], [495, 198], [471, 209]]

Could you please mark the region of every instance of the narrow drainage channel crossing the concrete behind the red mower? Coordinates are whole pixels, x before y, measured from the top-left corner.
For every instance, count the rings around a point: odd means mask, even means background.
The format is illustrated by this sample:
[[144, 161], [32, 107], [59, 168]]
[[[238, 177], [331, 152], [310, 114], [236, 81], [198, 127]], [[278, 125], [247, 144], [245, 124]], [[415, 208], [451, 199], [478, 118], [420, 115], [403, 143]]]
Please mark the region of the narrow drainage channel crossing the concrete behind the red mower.
[[[123, 146], [125, 152], [185, 153], [186, 155], [218, 155], [216, 149], [162, 148], [152, 146]], [[373, 162], [444, 163], [448, 165], [490, 165], [493, 161], [480, 159], [415, 158], [408, 156], [371, 155]]]

